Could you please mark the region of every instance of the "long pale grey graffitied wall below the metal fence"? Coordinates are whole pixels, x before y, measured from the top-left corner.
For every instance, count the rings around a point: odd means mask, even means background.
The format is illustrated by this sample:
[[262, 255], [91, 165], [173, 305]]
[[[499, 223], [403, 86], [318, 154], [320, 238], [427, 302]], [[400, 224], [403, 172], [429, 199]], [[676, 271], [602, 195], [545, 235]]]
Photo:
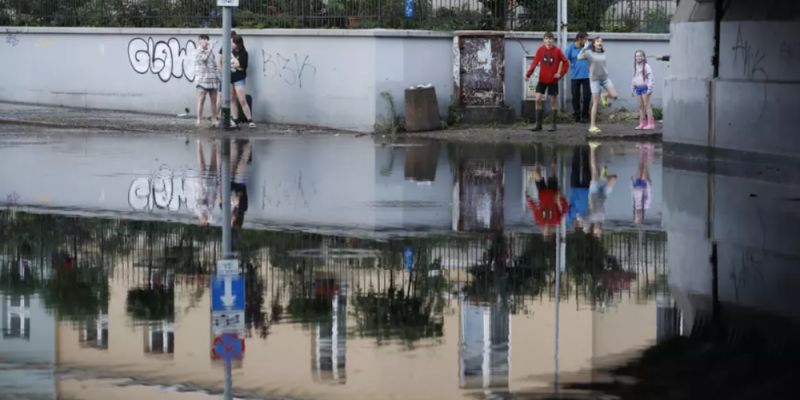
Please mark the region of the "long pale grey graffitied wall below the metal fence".
[[[193, 54], [197, 35], [219, 30], [5, 27], [0, 100], [179, 114], [195, 112]], [[453, 34], [394, 30], [240, 30], [250, 55], [247, 91], [254, 118], [372, 132], [404, 114], [404, 89], [431, 83], [443, 119], [453, 96]], [[523, 48], [541, 33], [506, 40], [506, 103], [519, 113]], [[607, 34], [612, 79], [627, 96], [635, 49], [666, 52], [666, 35]], [[574, 34], [570, 34], [574, 37]], [[151, 40], [152, 39], [152, 40]], [[654, 104], [661, 103], [663, 63]]]

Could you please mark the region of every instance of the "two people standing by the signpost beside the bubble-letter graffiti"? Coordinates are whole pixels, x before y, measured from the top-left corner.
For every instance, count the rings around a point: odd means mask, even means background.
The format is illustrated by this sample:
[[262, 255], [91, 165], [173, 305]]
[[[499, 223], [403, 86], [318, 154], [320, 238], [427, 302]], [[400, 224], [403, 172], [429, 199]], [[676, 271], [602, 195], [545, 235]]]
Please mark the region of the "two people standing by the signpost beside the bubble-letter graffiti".
[[[203, 109], [205, 108], [206, 97], [211, 102], [212, 126], [219, 126], [220, 108], [222, 103], [221, 77], [222, 68], [222, 49], [214, 56], [213, 46], [208, 35], [202, 34], [199, 37], [199, 47], [194, 59], [195, 83], [197, 87], [197, 125], [200, 126], [203, 120]], [[255, 128], [252, 110], [247, 104], [246, 84], [247, 84], [247, 65], [248, 54], [244, 46], [244, 39], [231, 33], [231, 126], [238, 126], [246, 123], [251, 128]], [[244, 114], [244, 121], [238, 119], [239, 107]]]

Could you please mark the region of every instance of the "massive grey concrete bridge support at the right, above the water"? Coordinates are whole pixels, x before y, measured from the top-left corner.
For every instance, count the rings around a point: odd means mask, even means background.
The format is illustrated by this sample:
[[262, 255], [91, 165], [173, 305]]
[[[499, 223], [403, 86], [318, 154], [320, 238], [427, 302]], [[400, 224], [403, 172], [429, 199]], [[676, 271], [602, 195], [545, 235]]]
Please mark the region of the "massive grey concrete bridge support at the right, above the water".
[[791, 2], [762, 8], [744, 0], [729, 3], [720, 24], [716, 77], [713, 2], [687, 0], [678, 7], [670, 28], [665, 140], [796, 154], [800, 15]]

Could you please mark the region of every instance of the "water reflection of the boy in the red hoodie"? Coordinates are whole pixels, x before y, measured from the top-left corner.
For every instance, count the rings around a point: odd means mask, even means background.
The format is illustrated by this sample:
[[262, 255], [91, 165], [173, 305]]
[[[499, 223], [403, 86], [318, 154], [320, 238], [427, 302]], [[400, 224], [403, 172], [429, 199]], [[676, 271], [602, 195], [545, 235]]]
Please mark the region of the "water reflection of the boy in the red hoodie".
[[561, 194], [556, 177], [556, 165], [550, 166], [550, 176], [547, 180], [542, 176], [540, 166], [536, 166], [533, 172], [533, 179], [536, 182], [536, 190], [539, 192], [539, 204], [534, 203], [530, 195], [525, 192], [525, 200], [536, 220], [542, 228], [542, 235], [549, 238], [555, 232], [555, 228], [561, 223], [561, 219], [569, 212], [569, 203]]

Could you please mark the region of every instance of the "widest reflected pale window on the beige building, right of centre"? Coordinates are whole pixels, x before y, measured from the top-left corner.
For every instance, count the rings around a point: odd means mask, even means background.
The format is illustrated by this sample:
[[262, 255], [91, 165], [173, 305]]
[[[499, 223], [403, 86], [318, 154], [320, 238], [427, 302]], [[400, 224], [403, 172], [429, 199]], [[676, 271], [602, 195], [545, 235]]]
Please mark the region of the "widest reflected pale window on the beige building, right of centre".
[[467, 299], [460, 303], [460, 386], [508, 387], [511, 368], [508, 308], [500, 299], [492, 304], [475, 304]]

